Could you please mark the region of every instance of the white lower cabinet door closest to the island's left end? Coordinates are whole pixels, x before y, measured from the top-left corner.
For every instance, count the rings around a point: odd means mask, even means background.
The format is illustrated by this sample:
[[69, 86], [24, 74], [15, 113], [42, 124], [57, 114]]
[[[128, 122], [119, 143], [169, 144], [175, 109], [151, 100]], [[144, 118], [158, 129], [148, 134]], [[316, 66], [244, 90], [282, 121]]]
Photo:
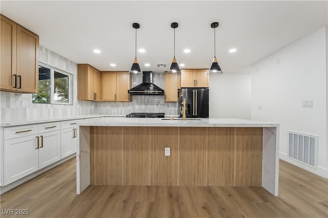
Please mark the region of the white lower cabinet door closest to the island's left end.
[[60, 157], [66, 158], [76, 152], [76, 128], [60, 130]]

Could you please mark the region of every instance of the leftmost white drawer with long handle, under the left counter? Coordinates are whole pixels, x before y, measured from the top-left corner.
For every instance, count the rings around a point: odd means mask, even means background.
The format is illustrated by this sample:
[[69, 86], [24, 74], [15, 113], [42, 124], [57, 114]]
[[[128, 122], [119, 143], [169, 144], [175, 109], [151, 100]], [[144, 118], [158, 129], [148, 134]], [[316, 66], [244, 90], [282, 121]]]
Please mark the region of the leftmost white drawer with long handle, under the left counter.
[[14, 139], [24, 136], [31, 136], [38, 133], [37, 124], [14, 127], [4, 127], [4, 140]]

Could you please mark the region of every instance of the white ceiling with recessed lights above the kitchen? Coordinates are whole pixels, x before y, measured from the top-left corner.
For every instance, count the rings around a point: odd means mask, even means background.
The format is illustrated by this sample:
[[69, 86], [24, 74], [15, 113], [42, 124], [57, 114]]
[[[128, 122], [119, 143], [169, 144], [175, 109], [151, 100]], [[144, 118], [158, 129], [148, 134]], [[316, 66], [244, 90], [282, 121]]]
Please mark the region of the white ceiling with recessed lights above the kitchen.
[[[1, 1], [1, 13], [38, 34], [40, 45], [100, 71], [128, 71], [135, 52], [142, 71], [209, 68], [214, 56], [224, 73], [245, 67], [327, 26], [327, 1]], [[183, 53], [189, 48], [190, 53]], [[236, 53], [229, 53], [237, 48]], [[93, 53], [101, 50], [100, 54]], [[145, 63], [150, 67], [145, 67]], [[111, 67], [110, 63], [116, 63]], [[167, 68], [157, 68], [166, 63]]]

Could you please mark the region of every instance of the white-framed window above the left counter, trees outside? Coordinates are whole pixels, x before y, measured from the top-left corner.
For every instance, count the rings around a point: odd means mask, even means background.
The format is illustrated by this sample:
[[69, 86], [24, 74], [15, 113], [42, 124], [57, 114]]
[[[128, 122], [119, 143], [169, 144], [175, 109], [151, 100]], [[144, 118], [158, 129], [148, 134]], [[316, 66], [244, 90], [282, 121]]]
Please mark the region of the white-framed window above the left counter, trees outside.
[[39, 63], [39, 92], [33, 103], [73, 104], [73, 75]]

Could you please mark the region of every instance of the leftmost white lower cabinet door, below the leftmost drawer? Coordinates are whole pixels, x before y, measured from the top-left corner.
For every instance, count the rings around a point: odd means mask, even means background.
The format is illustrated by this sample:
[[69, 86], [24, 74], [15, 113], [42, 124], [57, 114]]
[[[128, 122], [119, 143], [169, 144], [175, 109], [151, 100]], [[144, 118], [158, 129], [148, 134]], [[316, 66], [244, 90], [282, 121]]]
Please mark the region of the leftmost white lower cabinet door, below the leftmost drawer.
[[4, 141], [4, 185], [39, 169], [37, 135]]

